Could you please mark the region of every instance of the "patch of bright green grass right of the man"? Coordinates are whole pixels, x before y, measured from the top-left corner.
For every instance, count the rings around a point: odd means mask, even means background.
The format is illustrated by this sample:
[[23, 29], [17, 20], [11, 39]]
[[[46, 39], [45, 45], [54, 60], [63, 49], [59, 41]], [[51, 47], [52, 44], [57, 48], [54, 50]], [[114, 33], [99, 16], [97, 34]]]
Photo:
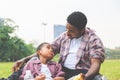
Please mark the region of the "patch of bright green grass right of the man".
[[120, 60], [105, 60], [100, 73], [105, 75], [108, 80], [120, 80]]

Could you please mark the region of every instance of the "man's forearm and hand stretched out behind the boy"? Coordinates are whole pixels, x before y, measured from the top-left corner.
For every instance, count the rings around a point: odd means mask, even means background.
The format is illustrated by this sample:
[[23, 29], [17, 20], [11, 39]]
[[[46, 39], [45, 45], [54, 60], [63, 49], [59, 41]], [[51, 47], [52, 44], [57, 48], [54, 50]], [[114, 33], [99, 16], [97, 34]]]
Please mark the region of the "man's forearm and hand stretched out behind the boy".
[[19, 68], [22, 66], [23, 63], [26, 63], [28, 60], [30, 60], [34, 56], [36, 56], [36, 53], [34, 53], [30, 56], [27, 56], [25, 58], [22, 58], [20, 60], [17, 60], [12, 67], [12, 71], [15, 72], [15, 71], [19, 70]]

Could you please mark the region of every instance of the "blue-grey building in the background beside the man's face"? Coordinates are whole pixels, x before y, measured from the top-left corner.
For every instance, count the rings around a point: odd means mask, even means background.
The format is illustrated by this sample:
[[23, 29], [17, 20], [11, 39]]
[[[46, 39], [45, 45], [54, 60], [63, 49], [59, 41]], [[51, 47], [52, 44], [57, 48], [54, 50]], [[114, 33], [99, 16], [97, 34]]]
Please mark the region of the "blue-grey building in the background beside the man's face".
[[64, 25], [54, 25], [53, 27], [53, 35], [54, 39], [58, 37], [61, 33], [63, 33], [66, 30], [66, 27]]

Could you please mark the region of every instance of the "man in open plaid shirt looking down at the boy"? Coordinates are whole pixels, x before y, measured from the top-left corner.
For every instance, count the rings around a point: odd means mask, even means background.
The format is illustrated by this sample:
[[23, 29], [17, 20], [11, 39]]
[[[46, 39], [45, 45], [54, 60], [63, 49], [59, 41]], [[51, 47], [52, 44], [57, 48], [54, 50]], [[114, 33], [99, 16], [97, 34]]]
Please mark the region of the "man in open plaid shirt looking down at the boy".
[[[60, 53], [59, 63], [66, 80], [80, 73], [84, 80], [92, 80], [104, 61], [103, 43], [86, 24], [87, 18], [82, 12], [71, 13], [67, 17], [66, 31], [51, 43], [54, 52]], [[13, 70], [24, 60], [17, 61]]]

